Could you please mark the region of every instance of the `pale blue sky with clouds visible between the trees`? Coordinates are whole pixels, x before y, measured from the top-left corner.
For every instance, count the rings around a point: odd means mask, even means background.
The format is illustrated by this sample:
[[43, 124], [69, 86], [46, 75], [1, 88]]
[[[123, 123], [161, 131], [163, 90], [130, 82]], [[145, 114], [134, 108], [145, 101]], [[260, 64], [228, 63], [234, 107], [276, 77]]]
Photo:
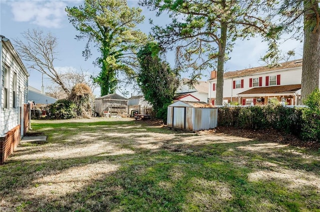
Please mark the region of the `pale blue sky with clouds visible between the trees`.
[[[128, 0], [128, 6], [138, 7], [138, 0]], [[87, 70], [92, 74], [99, 72], [99, 67], [93, 65], [93, 61], [99, 56], [97, 49], [92, 49], [92, 56], [85, 61], [82, 51], [86, 40], [76, 40], [78, 32], [69, 23], [66, 6], [78, 6], [83, 4], [83, 0], [0, 0], [0, 34], [9, 38], [21, 38], [21, 33], [28, 29], [40, 29], [43, 32], [50, 32], [58, 39], [57, 55], [58, 60], [54, 66], [57, 70]], [[154, 20], [155, 24], [166, 24], [170, 19], [166, 15], [156, 17], [154, 11], [142, 8], [145, 16], [144, 22], [138, 27], [146, 34], [150, 33], [151, 25], [148, 19]], [[22, 40], [23, 41], [23, 40]], [[295, 56], [290, 59], [302, 58], [302, 43], [296, 40], [287, 40], [280, 45], [283, 52], [295, 50]], [[237, 40], [231, 52], [230, 59], [225, 63], [225, 71], [235, 71], [264, 65], [260, 57], [267, 50], [267, 45], [261, 42], [259, 37], [249, 40]], [[174, 66], [174, 52], [167, 52], [167, 62]], [[41, 89], [41, 74], [35, 70], [28, 70], [30, 73], [29, 85]], [[204, 76], [201, 80], [207, 80], [210, 69], [203, 70]], [[182, 77], [187, 77], [182, 75]], [[44, 87], [52, 83], [44, 76]], [[129, 95], [138, 94], [136, 90], [129, 90]], [[99, 89], [93, 93], [99, 96]], [[117, 91], [117, 93], [119, 93]], [[120, 94], [120, 93], [119, 93]], [[129, 97], [129, 96], [127, 96]]]

